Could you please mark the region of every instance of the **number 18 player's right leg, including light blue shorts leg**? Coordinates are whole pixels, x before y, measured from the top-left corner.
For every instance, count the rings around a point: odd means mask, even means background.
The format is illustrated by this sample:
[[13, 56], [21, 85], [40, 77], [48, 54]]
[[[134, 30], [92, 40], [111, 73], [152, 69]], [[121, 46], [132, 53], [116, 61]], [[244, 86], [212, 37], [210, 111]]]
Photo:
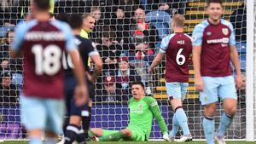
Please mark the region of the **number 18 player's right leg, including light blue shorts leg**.
[[62, 135], [63, 118], [65, 114], [65, 104], [62, 100], [47, 99], [45, 101], [47, 110], [45, 144], [55, 144], [57, 135]]

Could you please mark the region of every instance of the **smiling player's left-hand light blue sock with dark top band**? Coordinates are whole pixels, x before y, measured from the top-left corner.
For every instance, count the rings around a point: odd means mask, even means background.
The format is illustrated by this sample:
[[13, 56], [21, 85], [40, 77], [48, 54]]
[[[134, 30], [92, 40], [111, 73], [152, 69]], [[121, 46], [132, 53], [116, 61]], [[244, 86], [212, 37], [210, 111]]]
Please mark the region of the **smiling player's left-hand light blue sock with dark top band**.
[[207, 117], [203, 119], [203, 128], [207, 139], [207, 144], [214, 144], [214, 119], [213, 117]]

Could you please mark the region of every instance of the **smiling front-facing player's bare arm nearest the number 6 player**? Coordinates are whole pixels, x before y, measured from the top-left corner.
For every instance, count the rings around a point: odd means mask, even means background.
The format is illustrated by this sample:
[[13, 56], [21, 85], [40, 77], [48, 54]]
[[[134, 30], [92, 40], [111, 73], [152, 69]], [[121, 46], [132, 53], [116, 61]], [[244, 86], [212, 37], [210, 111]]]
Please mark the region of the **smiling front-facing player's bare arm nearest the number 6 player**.
[[201, 78], [201, 46], [193, 47], [192, 56], [194, 70], [195, 70], [195, 89], [201, 91], [204, 89], [204, 83]]

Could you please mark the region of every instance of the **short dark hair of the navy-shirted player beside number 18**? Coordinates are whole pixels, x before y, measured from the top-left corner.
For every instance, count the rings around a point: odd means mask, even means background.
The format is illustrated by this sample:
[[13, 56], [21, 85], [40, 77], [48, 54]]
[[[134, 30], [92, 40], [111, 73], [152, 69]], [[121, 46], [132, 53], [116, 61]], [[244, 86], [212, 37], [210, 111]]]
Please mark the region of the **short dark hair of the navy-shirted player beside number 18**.
[[71, 14], [68, 24], [72, 29], [81, 28], [83, 26], [83, 18], [80, 14]]

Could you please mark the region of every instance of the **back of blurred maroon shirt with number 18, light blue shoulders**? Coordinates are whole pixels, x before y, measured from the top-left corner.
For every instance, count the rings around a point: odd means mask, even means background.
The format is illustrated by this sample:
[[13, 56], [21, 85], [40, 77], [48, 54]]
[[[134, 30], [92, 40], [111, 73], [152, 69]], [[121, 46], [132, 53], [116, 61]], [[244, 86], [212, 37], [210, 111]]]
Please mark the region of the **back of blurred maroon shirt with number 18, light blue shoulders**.
[[61, 59], [70, 28], [57, 20], [32, 20], [18, 30], [18, 37], [23, 36], [20, 49], [24, 56], [24, 95], [61, 99]]

